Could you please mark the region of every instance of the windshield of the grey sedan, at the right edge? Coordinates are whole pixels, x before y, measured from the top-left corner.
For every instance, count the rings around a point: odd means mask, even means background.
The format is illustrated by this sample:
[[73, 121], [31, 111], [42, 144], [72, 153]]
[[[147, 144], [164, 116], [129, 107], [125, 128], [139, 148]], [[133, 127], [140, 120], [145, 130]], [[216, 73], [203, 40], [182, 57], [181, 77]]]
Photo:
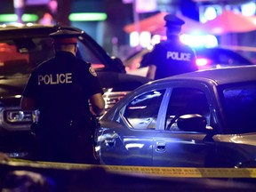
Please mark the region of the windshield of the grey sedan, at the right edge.
[[222, 89], [224, 116], [231, 133], [256, 132], [256, 82]]

